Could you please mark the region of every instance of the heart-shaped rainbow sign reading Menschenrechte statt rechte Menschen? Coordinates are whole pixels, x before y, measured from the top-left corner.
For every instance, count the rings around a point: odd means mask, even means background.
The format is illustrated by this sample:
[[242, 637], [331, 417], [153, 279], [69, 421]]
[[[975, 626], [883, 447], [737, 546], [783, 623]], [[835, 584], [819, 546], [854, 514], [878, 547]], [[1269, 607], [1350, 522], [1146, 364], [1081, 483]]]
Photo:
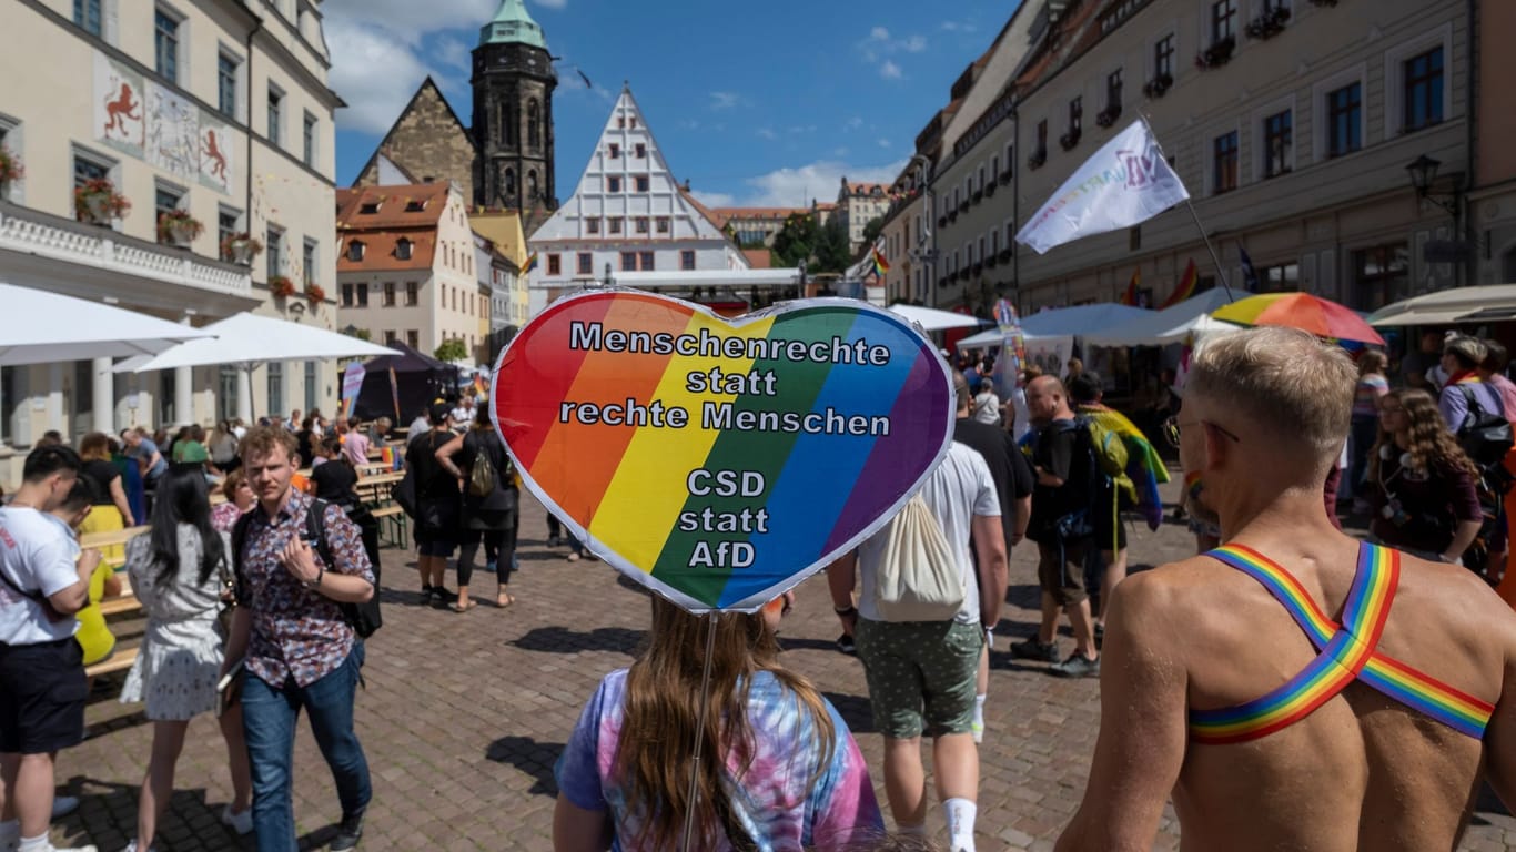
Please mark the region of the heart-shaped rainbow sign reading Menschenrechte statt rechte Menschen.
[[728, 321], [643, 291], [561, 299], [500, 353], [496, 424], [590, 550], [691, 612], [750, 612], [882, 526], [952, 441], [948, 365], [888, 311]]

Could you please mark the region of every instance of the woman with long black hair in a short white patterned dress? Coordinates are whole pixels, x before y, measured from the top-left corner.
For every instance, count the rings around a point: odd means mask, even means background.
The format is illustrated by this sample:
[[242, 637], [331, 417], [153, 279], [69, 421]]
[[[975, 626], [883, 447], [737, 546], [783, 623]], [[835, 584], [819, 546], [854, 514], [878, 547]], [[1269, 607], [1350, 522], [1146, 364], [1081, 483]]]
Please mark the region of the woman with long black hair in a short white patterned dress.
[[[205, 475], [193, 467], [165, 473], [158, 484], [150, 532], [126, 547], [126, 570], [147, 612], [147, 628], [126, 676], [121, 703], [146, 702], [146, 716], [153, 722], [153, 755], [136, 805], [136, 840], [127, 852], [152, 849], [173, 794], [174, 764], [190, 720], [217, 706], [226, 638], [217, 612], [230, 549], [226, 534], [211, 526]], [[241, 708], [227, 708], [220, 723], [233, 790], [221, 822], [247, 834], [253, 828], [252, 779]]]

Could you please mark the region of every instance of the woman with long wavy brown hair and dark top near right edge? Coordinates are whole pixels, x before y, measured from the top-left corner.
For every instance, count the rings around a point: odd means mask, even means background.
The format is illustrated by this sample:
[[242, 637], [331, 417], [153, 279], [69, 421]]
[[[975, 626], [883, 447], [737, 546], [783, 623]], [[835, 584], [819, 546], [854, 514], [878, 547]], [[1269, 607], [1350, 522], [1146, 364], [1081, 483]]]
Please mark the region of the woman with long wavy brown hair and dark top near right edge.
[[1458, 562], [1484, 522], [1478, 479], [1431, 394], [1398, 390], [1380, 397], [1380, 440], [1369, 452], [1364, 484], [1375, 541]]

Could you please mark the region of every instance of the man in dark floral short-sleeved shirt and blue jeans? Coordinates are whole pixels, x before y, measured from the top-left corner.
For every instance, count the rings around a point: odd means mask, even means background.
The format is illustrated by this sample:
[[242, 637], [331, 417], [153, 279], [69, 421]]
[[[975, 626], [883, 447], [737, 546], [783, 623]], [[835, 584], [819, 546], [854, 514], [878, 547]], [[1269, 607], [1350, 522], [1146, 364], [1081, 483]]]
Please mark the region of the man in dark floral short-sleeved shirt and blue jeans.
[[294, 852], [294, 726], [311, 717], [343, 803], [330, 849], [356, 849], [371, 788], [368, 761], [353, 732], [353, 697], [364, 646], [338, 603], [374, 594], [374, 575], [358, 526], [341, 506], [321, 515], [327, 564], [306, 538], [312, 499], [290, 487], [300, 465], [296, 437], [276, 426], [252, 429], [240, 447], [258, 508], [233, 532], [236, 600], [227, 666], [244, 662], [243, 726], [253, 769], [253, 826], [259, 852]]

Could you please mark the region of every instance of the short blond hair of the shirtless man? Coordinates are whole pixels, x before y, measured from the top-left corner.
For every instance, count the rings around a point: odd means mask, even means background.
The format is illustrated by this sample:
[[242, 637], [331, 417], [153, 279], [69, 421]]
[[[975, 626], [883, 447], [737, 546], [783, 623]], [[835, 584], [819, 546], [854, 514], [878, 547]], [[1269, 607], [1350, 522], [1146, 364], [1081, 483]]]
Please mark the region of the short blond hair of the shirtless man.
[[1342, 453], [1358, 371], [1342, 347], [1264, 326], [1216, 338], [1190, 367], [1186, 400], [1204, 397], [1269, 426], [1269, 434], [1316, 452], [1323, 465]]

